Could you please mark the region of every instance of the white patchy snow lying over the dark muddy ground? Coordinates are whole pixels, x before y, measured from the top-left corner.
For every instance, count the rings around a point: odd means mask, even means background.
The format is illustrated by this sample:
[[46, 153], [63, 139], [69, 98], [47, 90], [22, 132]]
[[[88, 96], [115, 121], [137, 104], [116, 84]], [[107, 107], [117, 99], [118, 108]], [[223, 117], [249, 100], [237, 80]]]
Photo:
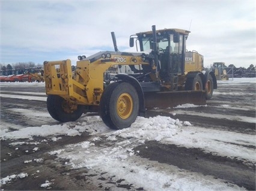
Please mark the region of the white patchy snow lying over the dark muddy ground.
[[[256, 84], [255, 78], [234, 78], [234, 80], [229, 81], [218, 81], [218, 84], [219, 86], [223, 84], [239, 86], [245, 81], [254, 84], [254, 86]], [[0, 85], [2, 87], [44, 86], [44, 83], [1, 83]], [[20, 93], [20, 95], [15, 95], [15, 98], [46, 101], [46, 98], [37, 97], [36, 94], [42, 95], [42, 93], [34, 93], [33, 96], [28, 97]], [[11, 98], [10, 95], [1, 94], [1, 98], [7, 96]], [[182, 107], [197, 106], [181, 105], [180, 108]], [[21, 109], [15, 109], [13, 112], [23, 113], [24, 117], [31, 117], [31, 112], [24, 112]], [[43, 112], [34, 113], [34, 116], [50, 119], [49, 114]], [[254, 117], [240, 117], [237, 120], [256, 123]], [[248, 166], [255, 166], [256, 163], [255, 135], [194, 126], [188, 121], [160, 115], [148, 119], [138, 117], [130, 128], [119, 131], [109, 129], [99, 116], [86, 115], [82, 116], [78, 122], [59, 125], [14, 126], [10, 129], [8, 124], [1, 123], [0, 127], [1, 140], [15, 140], [12, 144], [17, 148], [19, 145], [26, 144], [26, 140], [31, 143], [34, 137], [45, 137], [50, 138], [51, 141], [58, 141], [63, 136], [75, 137], [88, 132], [91, 135], [89, 140], [69, 144], [58, 150], [51, 150], [49, 154], [60, 159], [67, 159], [68, 162], [64, 165], [70, 166], [70, 168], [86, 168], [94, 171], [95, 174], [106, 172], [106, 177], [113, 177], [113, 181], [123, 179], [127, 184], [132, 184], [133, 188], [143, 188], [144, 190], [246, 190], [211, 175], [190, 172], [174, 165], [142, 159], [136, 154], [139, 153], [139, 150], [134, 150], [134, 148], [138, 145], [144, 145], [146, 141], [157, 141], [167, 145], [175, 144], [186, 148], [200, 148], [205, 153], [242, 160]], [[108, 145], [99, 144], [102, 142], [108, 143]], [[34, 144], [36, 152], [37, 149], [40, 149], [40, 143], [35, 142]], [[241, 145], [253, 145], [254, 147]], [[17, 175], [10, 174], [7, 177], [1, 177], [0, 183], [11, 183], [14, 178], [26, 178], [28, 175], [26, 172], [20, 172]], [[97, 178], [94, 179], [97, 181]], [[99, 180], [99, 182], [102, 181]], [[52, 184], [50, 181], [46, 181], [46, 183], [41, 184], [41, 187], [50, 188]], [[111, 184], [109, 187], [114, 189]], [[118, 188], [118, 190], [127, 189]]]

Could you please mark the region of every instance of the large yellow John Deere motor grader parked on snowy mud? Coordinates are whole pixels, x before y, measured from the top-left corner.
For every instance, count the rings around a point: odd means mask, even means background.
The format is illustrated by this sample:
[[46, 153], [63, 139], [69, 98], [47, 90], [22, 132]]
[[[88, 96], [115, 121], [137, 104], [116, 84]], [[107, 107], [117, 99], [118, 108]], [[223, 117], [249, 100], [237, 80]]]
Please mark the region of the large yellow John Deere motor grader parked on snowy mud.
[[[99, 112], [113, 129], [128, 128], [149, 108], [206, 104], [217, 88], [213, 72], [185, 71], [189, 31], [162, 29], [130, 36], [135, 53], [117, 48], [78, 56], [75, 72], [69, 59], [44, 62], [47, 110], [59, 122], [75, 121], [83, 113]], [[135, 41], [136, 40], [136, 41]], [[138, 49], [137, 49], [138, 50]], [[132, 74], [115, 72], [129, 66]]]

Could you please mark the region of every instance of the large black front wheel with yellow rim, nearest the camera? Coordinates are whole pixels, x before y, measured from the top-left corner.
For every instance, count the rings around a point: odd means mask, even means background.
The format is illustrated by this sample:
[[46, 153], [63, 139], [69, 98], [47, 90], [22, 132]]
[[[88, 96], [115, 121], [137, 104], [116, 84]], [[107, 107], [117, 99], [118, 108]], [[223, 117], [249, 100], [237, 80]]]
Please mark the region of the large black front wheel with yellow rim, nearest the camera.
[[112, 129], [129, 128], [139, 113], [139, 98], [135, 87], [127, 82], [109, 84], [100, 99], [100, 116]]

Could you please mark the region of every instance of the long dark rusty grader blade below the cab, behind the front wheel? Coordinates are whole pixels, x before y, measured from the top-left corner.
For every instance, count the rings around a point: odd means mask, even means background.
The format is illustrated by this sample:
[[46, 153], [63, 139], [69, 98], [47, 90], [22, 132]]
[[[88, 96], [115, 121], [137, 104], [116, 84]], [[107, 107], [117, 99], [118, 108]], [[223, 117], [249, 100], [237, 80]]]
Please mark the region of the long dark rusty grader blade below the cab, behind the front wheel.
[[145, 108], [176, 107], [182, 104], [205, 105], [205, 91], [179, 91], [179, 92], [145, 92]]

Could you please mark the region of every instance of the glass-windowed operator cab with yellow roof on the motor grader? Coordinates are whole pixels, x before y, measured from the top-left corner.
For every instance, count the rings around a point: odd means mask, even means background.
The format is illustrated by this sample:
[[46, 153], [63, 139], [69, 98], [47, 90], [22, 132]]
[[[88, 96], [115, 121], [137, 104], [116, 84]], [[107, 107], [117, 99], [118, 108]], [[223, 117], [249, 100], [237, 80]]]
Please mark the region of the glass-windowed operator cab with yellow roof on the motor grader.
[[[140, 32], [130, 37], [130, 47], [133, 38], [136, 39], [140, 51], [150, 53], [156, 51], [158, 57], [157, 71], [162, 81], [171, 81], [172, 77], [184, 74], [186, 39], [189, 31], [182, 29], [163, 29], [156, 31], [156, 50], [153, 50], [153, 32]], [[153, 50], [153, 51], [152, 51]]]

